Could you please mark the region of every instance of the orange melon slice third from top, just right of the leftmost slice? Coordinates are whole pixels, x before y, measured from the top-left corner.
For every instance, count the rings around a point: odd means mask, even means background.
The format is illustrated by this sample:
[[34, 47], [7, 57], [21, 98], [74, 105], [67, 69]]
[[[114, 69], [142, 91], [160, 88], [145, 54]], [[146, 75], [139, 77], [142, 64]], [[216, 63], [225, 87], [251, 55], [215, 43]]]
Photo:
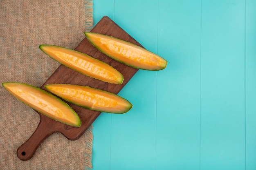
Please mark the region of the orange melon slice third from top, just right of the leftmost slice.
[[126, 99], [88, 86], [72, 84], [48, 84], [45, 88], [78, 106], [106, 113], [126, 113], [132, 104]]

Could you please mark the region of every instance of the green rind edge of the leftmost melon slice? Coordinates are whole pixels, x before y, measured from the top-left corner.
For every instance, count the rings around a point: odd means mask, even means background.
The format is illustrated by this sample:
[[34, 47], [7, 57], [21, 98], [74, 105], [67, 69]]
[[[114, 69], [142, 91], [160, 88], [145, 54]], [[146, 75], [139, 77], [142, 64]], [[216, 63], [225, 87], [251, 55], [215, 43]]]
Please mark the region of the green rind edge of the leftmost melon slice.
[[[22, 85], [30, 86], [31, 88], [35, 88], [36, 90], [40, 91], [41, 93], [45, 93], [45, 94], [47, 94], [47, 95], [49, 95], [49, 96], [55, 98], [56, 100], [58, 100], [59, 102], [61, 102], [64, 106], [66, 106], [67, 108], [69, 108], [69, 109], [72, 111], [72, 113], [76, 116], [76, 118], [77, 118], [77, 120], [78, 120], [77, 124], [74, 125], [74, 124], [68, 124], [68, 123], [63, 122], [63, 121], [59, 121], [58, 119], [54, 119], [53, 117], [50, 117], [49, 115], [47, 115], [47, 114], [45, 114], [45, 113], [42, 113], [40, 110], [37, 110], [37, 109], [35, 109], [35, 108], [29, 106], [29, 104], [27, 104], [27, 103], [23, 102], [22, 100], [18, 99], [16, 96], [14, 96], [14, 95], [12, 94], [11, 91], [9, 91], [9, 89], [7, 89], [7, 88], [5, 87], [5, 85], [7, 85], [7, 84], [9, 84], [9, 83], [16, 83], [16, 84], [22, 84]], [[47, 116], [47, 117], [49, 117], [49, 118], [51, 118], [51, 119], [54, 119], [54, 120], [59, 121], [59, 122], [61, 122], [61, 123], [63, 123], [63, 124], [67, 124], [67, 125], [75, 126], [75, 127], [80, 127], [81, 124], [82, 124], [79, 115], [78, 115], [68, 104], [66, 104], [65, 102], [63, 102], [63, 100], [59, 99], [58, 97], [52, 95], [51, 93], [48, 93], [47, 91], [44, 91], [43, 89], [37, 88], [37, 87], [32, 86], [32, 85], [29, 85], [29, 84], [18, 83], [18, 82], [4, 82], [4, 83], [2, 83], [2, 86], [3, 86], [9, 93], [11, 93], [11, 95], [13, 95], [16, 99], [18, 99], [20, 102], [22, 102], [23, 104], [29, 106], [30, 108], [33, 108], [34, 110], [38, 111], [39, 113], [41, 113], [41, 114], [43, 114], [43, 115], [45, 115], [45, 116]]]

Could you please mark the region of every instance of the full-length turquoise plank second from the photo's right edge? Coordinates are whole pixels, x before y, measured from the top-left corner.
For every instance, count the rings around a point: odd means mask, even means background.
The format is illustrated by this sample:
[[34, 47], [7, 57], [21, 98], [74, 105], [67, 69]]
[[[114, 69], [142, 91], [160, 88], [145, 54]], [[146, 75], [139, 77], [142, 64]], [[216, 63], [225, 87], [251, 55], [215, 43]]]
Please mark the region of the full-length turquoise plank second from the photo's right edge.
[[244, 0], [202, 0], [201, 170], [245, 169], [244, 35]]

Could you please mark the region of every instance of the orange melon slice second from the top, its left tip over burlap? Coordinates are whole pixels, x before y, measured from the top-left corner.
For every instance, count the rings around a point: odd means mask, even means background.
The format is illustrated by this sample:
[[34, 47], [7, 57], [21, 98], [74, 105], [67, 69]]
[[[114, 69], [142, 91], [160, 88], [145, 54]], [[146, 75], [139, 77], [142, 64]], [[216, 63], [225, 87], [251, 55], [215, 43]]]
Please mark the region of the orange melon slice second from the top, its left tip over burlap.
[[112, 84], [121, 84], [124, 80], [115, 68], [84, 53], [54, 45], [40, 45], [39, 48], [54, 60], [89, 77]]

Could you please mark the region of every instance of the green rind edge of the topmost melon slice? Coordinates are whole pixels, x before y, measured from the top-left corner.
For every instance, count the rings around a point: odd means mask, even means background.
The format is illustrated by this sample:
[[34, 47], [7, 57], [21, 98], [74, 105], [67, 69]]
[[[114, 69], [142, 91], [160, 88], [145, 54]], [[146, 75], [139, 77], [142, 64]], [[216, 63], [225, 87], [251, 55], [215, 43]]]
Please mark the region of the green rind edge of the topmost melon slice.
[[[147, 70], [147, 71], [159, 71], [159, 70], [163, 70], [163, 69], [166, 68], [166, 66], [167, 66], [167, 63], [168, 63], [167, 61], [166, 61], [166, 64], [165, 64], [164, 67], [162, 67], [161, 69], [155, 69], [155, 70], [154, 70], [154, 69], [146, 69], [146, 68], [140, 68], [140, 67], [133, 66], [133, 65], [128, 64], [128, 63], [126, 63], [126, 62], [123, 62], [123, 61], [121, 61], [121, 60], [118, 60], [116, 57], [114, 57], [114, 56], [112, 56], [112, 55], [109, 55], [109, 54], [106, 53], [105, 51], [101, 50], [101, 49], [99, 48], [99, 46], [97, 46], [97, 44], [95, 44], [95, 43], [90, 39], [90, 34], [99, 34], [99, 33], [84, 32], [84, 34], [85, 34], [85, 37], [90, 41], [90, 43], [91, 43], [95, 48], [97, 48], [99, 51], [101, 51], [101, 53], [103, 53], [103, 54], [107, 55], [108, 57], [112, 58], [113, 60], [116, 60], [116, 61], [118, 61], [118, 62], [120, 62], [120, 63], [122, 63], [122, 64], [125, 64], [125, 65], [127, 65], [127, 66], [130, 66], [130, 67], [133, 67], [133, 68], [137, 68], [137, 69], [141, 69], [141, 70]], [[103, 34], [99, 34], [99, 35], [103, 35]], [[103, 35], [103, 36], [106, 36], [106, 37], [110, 37], [110, 38], [119, 40], [119, 41], [121, 41], [121, 42], [124, 42], [125, 44], [131, 44], [132, 46], [137, 46], [137, 47], [140, 48], [140, 49], [144, 49], [144, 48], [142, 48], [141, 46], [138, 46], [138, 45], [133, 44], [133, 43], [131, 43], [131, 42], [127, 42], [127, 41], [124, 41], [124, 40], [121, 40], [121, 39], [118, 39], [118, 38], [115, 38], [115, 37], [112, 37], [112, 36], [108, 36], [108, 35]], [[146, 49], [144, 49], [144, 50], [146, 50]], [[146, 51], [148, 51], [148, 50], [146, 50]], [[149, 53], [153, 53], [153, 52], [151, 52], [151, 51], [148, 51], [148, 52], [149, 52]], [[155, 54], [155, 53], [153, 53], [153, 54]], [[155, 55], [157, 55], [157, 54], [155, 54]], [[159, 55], [157, 55], [157, 56], [160, 57]], [[162, 58], [162, 57], [161, 57], [161, 58]]]

